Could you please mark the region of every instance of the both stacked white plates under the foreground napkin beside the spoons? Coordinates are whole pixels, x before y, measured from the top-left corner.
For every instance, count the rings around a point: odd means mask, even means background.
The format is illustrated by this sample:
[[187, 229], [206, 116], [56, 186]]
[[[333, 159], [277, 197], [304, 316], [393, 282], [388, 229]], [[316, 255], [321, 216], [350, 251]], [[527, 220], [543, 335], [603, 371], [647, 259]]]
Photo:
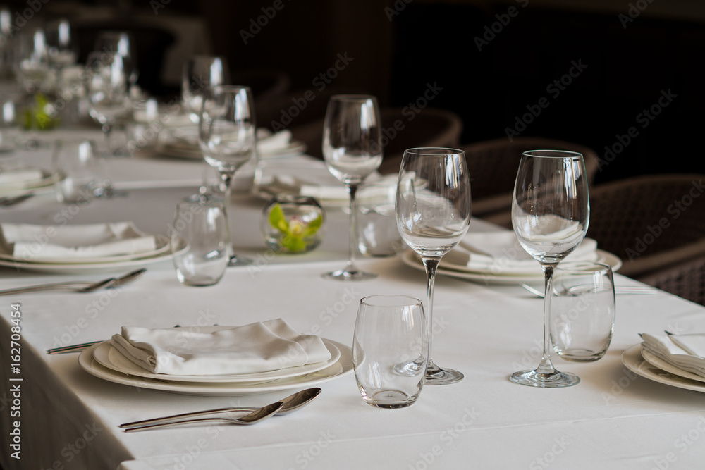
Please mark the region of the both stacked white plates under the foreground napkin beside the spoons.
[[290, 388], [305, 388], [353, 371], [353, 350], [339, 342], [321, 338], [331, 359], [275, 371], [226, 376], [180, 376], [152, 373], [127, 359], [104, 341], [84, 350], [78, 363], [92, 376], [133, 387], [163, 390], [183, 395], [255, 395]]

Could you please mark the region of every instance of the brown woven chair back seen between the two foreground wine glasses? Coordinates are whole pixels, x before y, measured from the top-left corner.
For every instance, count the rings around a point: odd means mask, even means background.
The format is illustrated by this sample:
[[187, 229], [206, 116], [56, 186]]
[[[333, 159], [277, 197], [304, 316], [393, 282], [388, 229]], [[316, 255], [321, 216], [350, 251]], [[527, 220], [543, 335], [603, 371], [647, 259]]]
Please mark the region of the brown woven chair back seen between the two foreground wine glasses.
[[527, 150], [569, 150], [584, 156], [587, 182], [592, 184], [598, 171], [597, 154], [574, 142], [544, 137], [501, 137], [460, 147], [472, 178], [472, 215], [511, 227], [510, 210], [519, 161]]

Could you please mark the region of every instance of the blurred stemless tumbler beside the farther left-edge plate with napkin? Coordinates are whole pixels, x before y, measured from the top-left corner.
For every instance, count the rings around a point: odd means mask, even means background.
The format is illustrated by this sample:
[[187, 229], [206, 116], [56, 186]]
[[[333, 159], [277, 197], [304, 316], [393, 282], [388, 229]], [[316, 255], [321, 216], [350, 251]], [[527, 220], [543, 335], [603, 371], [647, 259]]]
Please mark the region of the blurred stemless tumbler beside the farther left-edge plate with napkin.
[[100, 173], [95, 145], [91, 140], [56, 140], [52, 156], [56, 200], [63, 204], [88, 204], [94, 198]]

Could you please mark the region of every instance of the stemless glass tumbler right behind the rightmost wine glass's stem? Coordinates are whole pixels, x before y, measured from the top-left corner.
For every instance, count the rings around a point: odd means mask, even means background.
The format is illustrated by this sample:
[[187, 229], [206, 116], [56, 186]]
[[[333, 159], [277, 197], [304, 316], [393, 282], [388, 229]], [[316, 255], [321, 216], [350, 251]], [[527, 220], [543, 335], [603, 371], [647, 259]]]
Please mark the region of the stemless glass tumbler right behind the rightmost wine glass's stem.
[[561, 262], [553, 272], [551, 342], [561, 359], [603, 357], [612, 340], [615, 290], [612, 268], [591, 262]]

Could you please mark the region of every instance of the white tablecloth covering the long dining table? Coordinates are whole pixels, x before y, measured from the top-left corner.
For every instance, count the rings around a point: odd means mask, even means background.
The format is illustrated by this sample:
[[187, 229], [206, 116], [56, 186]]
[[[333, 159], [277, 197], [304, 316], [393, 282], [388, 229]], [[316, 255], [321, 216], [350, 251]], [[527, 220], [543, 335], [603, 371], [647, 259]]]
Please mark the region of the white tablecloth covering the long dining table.
[[[134, 163], [134, 162], [133, 162]], [[127, 197], [80, 206], [68, 223], [133, 221], [166, 234], [176, 203], [195, 185], [134, 187]], [[705, 459], [705, 395], [651, 381], [621, 355], [638, 333], [705, 330], [705, 309], [684, 299], [620, 295], [611, 347], [593, 363], [553, 359], [578, 385], [541, 389], [508, 376], [539, 362], [543, 302], [517, 285], [439, 276], [433, 357], [465, 378], [426, 386], [405, 409], [365, 404], [353, 373], [322, 383], [307, 407], [255, 426], [190, 426], [125, 433], [118, 425], [167, 414], [263, 405], [297, 390], [252, 396], [193, 396], [94, 377], [60, 345], [107, 340], [121, 326], [244, 325], [283, 318], [301, 332], [352, 346], [357, 305], [367, 295], [425, 299], [424, 273], [398, 256], [361, 258], [373, 280], [341, 282], [321, 274], [347, 259], [348, 216], [326, 213], [324, 241], [307, 254], [276, 254], [259, 235], [265, 201], [235, 194], [229, 211], [235, 252], [250, 266], [228, 268], [212, 287], [180, 285], [171, 261], [116, 290], [45, 292], [0, 299], [3, 469], [693, 469]], [[66, 211], [51, 194], [0, 209], [0, 222], [56, 223]], [[66, 214], [66, 212], [64, 212]], [[470, 230], [492, 230], [473, 220]], [[3, 288], [104, 273], [33, 273], [0, 268]], [[620, 285], [638, 284], [616, 275]], [[21, 312], [21, 361], [11, 369], [11, 305]], [[22, 379], [13, 381], [11, 379]], [[13, 395], [13, 386], [20, 392]], [[302, 387], [304, 388], [304, 387]], [[14, 415], [13, 412], [20, 414]], [[11, 457], [20, 421], [20, 459]]]

